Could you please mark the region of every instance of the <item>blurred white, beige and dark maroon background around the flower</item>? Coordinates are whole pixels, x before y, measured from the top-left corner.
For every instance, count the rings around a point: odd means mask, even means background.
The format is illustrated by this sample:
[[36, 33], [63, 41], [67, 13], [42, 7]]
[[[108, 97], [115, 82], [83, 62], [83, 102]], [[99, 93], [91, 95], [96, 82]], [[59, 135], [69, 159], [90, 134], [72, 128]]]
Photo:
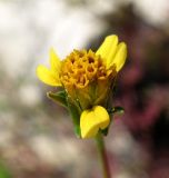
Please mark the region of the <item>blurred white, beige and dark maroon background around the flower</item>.
[[116, 33], [128, 44], [106, 138], [113, 178], [169, 178], [169, 1], [0, 0], [0, 178], [101, 178], [95, 142], [36, 77], [53, 47], [96, 50]]

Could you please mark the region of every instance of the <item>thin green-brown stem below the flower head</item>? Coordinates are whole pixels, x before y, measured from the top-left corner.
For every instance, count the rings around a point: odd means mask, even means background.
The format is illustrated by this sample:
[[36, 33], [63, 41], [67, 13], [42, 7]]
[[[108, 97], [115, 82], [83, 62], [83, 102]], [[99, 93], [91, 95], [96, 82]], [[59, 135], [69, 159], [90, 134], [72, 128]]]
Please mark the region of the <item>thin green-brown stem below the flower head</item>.
[[102, 178], [111, 178], [108, 158], [107, 158], [107, 151], [105, 148], [105, 142], [101, 134], [97, 135], [96, 141], [97, 141], [99, 160], [102, 167]]

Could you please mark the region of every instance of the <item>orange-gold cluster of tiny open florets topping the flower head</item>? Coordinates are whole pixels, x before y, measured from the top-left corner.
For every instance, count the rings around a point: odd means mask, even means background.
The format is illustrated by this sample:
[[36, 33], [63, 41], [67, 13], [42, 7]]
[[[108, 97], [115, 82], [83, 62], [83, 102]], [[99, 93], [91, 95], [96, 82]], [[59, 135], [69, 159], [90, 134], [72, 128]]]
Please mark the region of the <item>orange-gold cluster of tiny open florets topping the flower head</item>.
[[84, 88], [95, 80], [105, 80], [115, 67], [106, 69], [100, 56], [91, 50], [73, 50], [61, 65], [60, 80], [67, 87]]

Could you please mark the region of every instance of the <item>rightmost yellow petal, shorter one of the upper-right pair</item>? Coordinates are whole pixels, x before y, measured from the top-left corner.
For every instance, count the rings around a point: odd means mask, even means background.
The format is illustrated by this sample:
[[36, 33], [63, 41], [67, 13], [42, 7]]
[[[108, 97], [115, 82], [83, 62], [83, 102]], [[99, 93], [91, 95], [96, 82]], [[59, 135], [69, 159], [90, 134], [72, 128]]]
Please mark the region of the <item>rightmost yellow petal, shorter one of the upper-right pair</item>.
[[117, 48], [115, 59], [110, 66], [116, 65], [117, 72], [122, 68], [127, 58], [127, 46], [125, 42], [120, 42]]

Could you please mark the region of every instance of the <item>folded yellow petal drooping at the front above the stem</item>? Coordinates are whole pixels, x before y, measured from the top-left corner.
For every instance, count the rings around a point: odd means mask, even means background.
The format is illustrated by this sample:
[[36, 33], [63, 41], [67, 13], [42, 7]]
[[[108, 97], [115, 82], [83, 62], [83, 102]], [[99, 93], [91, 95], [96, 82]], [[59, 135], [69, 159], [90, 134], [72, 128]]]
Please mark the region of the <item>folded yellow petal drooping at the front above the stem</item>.
[[84, 110], [80, 117], [81, 137], [95, 137], [99, 129], [107, 128], [109, 122], [109, 115], [103, 107], [96, 106], [91, 110]]

